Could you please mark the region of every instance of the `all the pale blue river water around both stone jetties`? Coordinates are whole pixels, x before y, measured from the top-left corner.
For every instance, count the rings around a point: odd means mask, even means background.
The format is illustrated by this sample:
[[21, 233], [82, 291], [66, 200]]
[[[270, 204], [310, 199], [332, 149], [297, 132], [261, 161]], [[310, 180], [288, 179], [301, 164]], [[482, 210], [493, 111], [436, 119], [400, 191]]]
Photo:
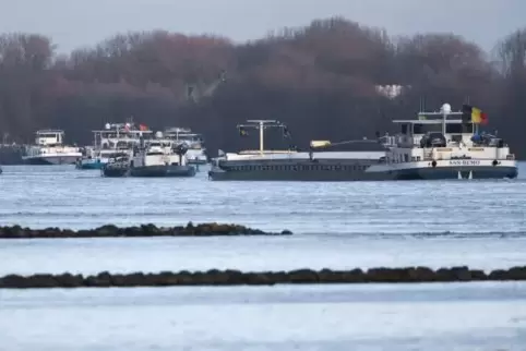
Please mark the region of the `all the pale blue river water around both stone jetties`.
[[[32, 273], [526, 264], [519, 179], [356, 183], [105, 179], [4, 166], [0, 225], [235, 222], [292, 237], [0, 241]], [[0, 350], [522, 350], [523, 283], [0, 290]]]

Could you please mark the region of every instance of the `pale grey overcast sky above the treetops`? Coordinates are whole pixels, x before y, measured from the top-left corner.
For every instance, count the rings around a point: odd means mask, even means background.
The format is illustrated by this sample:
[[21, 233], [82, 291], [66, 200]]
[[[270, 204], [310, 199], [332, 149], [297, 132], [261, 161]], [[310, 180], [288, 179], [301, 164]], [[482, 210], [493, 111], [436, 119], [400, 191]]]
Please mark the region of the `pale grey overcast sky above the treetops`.
[[490, 50], [526, 26], [526, 0], [0, 0], [0, 33], [52, 37], [60, 52], [118, 32], [214, 33], [236, 41], [345, 16], [390, 34], [454, 32]]

